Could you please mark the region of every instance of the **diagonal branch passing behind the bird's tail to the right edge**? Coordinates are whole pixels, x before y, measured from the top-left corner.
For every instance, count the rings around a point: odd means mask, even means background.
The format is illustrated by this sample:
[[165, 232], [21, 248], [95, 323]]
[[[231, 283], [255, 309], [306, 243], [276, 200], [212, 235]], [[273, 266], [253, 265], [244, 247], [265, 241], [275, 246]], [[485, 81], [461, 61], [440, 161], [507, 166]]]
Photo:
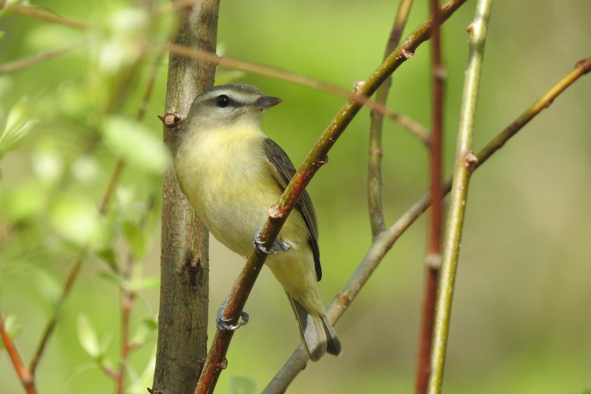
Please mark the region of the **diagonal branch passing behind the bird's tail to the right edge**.
[[[476, 155], [476, 162], [473, 167], [473, 171], [484, 164], [491, 156], [501, 149], [509, 139], [511, 139], [519, 130], [521, 130], [528, 122], [531, 121], [534, 116], [541, 112], [544, 108], [547, 108], [551, 103], [574, 81], [579, 79], [586, 73], [591, 71], [591, 57], [580, 60], [572, 71], [564, 76], [556, 85], [551, 87], [548, 92], [544, 93], [530, 108], [528, 108], [519, 118], [515, 119], [509, 126], [495, 136], [480, 152]], [[443, 194], [452, 190], [452, 180], [447, 180], [443, 187]], [[341, 289], [339, 295], [333, 299], [330, 308], [327, 310], [327, 315], [333, 323], [335, 323], [348, 309], [350, 303], [358, 295], [359, 291], [363, 288], [365, 283], [368, 281], [371, 274], [378, 268], [382, 258], [386, 255], [388, 250], [392, 248], [398, 238], [405, 232], [411, 224], [414, 223], [424, 211], [429, 207], [430, 196], [429, 193], [425, 193], [421, 198], [417, 200], [401, 217], [396, 223], [394, 223], [385, 232], [379, 233], [378, 236], [372, 242], [365, 257], [359, 263], [358, 268], [355, 270], [349, 281]], [[283, 393], [287, 389], [287, 386], [293, 381], [293, 379], [306, 367], [308, 357], [303, 349], [303, 346], [299, 346], [291, 357], [285, 362], [281, 370], [275, 375], [275, 377], [269, 382], [269, 385], [263, 391], [264, 394]]]

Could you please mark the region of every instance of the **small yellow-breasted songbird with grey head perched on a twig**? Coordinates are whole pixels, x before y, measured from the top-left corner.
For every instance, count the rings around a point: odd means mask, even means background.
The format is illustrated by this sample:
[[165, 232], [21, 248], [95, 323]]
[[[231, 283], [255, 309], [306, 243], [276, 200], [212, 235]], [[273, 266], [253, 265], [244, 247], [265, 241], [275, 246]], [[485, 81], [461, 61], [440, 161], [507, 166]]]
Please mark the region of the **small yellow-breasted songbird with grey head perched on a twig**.
[[[309, 194], [301, 194], [274, 250], [258, 239], [269, 207], [296, 173], [283, 149], [261, 130], [265, 109], [280, 102], [243, 84], [201, 93], [178, 138], [176, 173], [181, 190], [219, 242], [245, 257], [253, 243], [269, 254], [266, 264], [287, 292], [304, 346], [316, 361], [327, 351], [338, 356], [342, 349], [318, 294], [318, 226]], [[235, 328], [220, 313], [217, 327]]]

